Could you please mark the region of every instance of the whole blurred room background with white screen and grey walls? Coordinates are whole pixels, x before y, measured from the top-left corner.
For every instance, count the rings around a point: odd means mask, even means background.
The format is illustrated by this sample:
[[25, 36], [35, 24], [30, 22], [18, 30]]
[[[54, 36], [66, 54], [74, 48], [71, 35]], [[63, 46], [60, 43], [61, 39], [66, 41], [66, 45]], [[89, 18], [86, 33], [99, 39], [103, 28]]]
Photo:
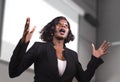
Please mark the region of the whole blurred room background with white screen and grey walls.
[[102, 57], [104, 63], [91, 82], [119, 82], [119, 7], [119, 0], [0, 0], [0, 82], [33, 82], [33, 65], [21, 76], [9, 78], [10, 57], [27, 17], [31, 18], [30, 27], [37, 27], [29, 49], [35, 41], [41, 41], [40, 30], [57, 16], [65, 16], [70, 22], [75, 40], [66, 46], [78, 52], [84, 70], [91, 57], [91, 43], [97, 48], [104, 40], [111, 42], [110, 53]]

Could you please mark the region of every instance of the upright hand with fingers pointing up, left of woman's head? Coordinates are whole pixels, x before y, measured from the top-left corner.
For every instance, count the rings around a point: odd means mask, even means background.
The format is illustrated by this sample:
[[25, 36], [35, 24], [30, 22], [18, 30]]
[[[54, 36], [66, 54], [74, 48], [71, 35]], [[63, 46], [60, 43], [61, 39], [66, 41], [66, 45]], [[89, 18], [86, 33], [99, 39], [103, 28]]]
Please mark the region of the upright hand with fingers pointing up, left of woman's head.
[[26, 24], [25, 24], [25, 28], [22, 36], [22, 42], [25, 42], [25, 43], [29, 42], [34, 31], [35, 31], [35, 26], [30, 31], [30, 18], [28, 17], [26, 20]]

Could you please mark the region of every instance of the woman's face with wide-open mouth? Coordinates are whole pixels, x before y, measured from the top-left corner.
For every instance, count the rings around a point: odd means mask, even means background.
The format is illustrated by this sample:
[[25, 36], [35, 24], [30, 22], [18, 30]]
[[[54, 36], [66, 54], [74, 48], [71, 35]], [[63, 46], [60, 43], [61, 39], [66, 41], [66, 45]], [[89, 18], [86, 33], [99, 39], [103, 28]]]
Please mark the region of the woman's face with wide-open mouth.
[[65, 19], [61, 19], [56, 25], [54, 37], [59, 40], [64, 40], [67, 38], [69, 32], [69, 26]]

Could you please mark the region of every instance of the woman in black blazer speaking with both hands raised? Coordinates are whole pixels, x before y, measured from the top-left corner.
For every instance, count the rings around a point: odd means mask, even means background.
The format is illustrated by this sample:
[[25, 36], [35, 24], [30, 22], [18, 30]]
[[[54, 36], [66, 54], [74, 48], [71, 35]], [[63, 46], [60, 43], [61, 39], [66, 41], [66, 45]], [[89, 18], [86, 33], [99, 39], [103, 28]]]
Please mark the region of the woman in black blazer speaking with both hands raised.
[[65, 46], [74, 40], [70, 24], [65, 17], [56, 17], [41, 31], [41, 39], [26, 52], [32, 31], [29, 30], [30, 18], [27, 18], [23, 36], [16, 46], [9, 63], [9, 76], [19, 76], [34, 63], [34, 82], [90, 82], [97, 67], [103, 63], [101, 56], [107, 54], [110, 43], [104, 41], [96, 50], [92, 44], [92, 56], [84, 71], [75, 51]]

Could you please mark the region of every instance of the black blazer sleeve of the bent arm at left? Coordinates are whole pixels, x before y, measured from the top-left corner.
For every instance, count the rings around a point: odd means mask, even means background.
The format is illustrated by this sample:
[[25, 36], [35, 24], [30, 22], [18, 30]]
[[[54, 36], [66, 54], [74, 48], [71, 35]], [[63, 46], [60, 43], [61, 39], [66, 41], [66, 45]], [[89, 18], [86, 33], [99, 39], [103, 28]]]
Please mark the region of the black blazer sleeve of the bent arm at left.
[[21, 40], [13, 51], [13, 55], [9, 63], [9, 77], [13, 78], [19, 76], [25, 71], [34, 61], [35, 45], [33, 45], [28, 52], [26, 52], [28, 43]]

